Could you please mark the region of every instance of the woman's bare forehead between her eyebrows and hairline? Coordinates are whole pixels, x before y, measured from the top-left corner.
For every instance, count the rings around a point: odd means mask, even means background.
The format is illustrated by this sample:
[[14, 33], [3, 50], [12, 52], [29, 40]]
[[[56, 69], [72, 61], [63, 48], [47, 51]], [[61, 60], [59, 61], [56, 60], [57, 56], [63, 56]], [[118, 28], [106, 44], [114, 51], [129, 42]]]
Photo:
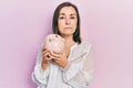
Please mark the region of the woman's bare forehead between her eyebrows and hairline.
[[60, 11], [60, 14], [76, 14], [75, 9], [73, 7], [63, 7]]

